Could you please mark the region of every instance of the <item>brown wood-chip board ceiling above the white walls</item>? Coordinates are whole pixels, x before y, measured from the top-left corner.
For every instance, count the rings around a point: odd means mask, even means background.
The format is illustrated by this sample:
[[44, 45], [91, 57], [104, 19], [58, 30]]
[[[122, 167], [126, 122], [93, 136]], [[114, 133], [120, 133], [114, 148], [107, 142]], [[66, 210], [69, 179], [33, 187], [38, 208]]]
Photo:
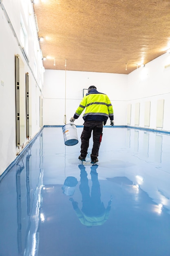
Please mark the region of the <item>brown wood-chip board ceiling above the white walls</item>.
[[169, 0], [39, 0], [33, 8], [45, 69], [129, 74], [170, 48]]

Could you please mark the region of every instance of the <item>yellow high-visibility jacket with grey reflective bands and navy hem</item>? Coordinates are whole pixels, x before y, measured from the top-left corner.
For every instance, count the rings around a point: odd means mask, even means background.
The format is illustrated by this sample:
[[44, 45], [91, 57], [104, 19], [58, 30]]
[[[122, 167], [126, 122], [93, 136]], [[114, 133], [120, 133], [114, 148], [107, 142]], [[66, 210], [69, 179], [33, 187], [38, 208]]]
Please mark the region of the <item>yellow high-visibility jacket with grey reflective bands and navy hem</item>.
[[113, 106], [108, 96], [92, 89], [87, 93], [77, 108], [74, 118], [77, 119], [86, 108], [83, 115], [84, 121], [106, 121], [108, 117], [113, 120]]

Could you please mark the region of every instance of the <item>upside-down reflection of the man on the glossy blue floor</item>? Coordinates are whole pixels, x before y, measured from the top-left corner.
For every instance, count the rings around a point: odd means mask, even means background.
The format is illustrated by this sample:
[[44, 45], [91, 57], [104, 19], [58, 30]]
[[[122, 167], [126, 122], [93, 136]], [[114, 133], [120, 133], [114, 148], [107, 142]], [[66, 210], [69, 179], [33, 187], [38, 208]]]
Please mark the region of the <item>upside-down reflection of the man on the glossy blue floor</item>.
[[103, 225], [110, 213], [110, 205], [112, 199], [108, 202], [108, 207], [105, 209], [104, 203], [101, 202], [100, 184], [98, 181], [98, 173], [96, 172], [98, 165], [91, 166], [91, 196], [90, 188], [88, 186], [88, 178], [83, 164], [79, 165], [80, 169], [80, 185], [79, 190], [82, 193], [82, 211], [78, 207], [78, 203], [70, 198], [73, 204], [73, 209], [75, 210], [79, 221], [88, 227]]

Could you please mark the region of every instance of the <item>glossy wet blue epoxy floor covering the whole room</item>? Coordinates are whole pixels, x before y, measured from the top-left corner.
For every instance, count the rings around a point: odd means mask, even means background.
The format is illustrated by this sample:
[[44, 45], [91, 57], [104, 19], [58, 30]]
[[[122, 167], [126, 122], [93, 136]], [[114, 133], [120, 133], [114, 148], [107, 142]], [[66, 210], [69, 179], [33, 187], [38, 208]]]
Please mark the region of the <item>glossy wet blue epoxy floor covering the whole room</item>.
[[168, 134], [104, 128], [82, 165], [80, 139], [44, 128], [0, 182], [0, 256], [170, 256], [169, 149]]

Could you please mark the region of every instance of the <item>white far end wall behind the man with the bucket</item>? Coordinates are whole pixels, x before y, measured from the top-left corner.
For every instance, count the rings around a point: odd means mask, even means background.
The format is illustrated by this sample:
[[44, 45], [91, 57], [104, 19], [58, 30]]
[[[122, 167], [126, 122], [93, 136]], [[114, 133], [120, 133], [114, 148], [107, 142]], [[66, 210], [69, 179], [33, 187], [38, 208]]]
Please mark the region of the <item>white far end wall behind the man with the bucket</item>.
[[[65, 112], [66, 123], [69, 123], [70, 118], [74, 115], [83, 98], [82, 90], [87, 89], [90, 85], [95, 85], [99, 92], [108, 95], [113, 105], [115, 123], [117, 125], [125, 125], [127, 78], [128, 76], [124, 74], [46, 70], [44, 73], [43, 89], [43, 124], [64, 125]], [[83, 113], [75, 121], [76, 125], [83, 124], [82, 116]], [[107, 125], [109, 124], [108, 120]]]

